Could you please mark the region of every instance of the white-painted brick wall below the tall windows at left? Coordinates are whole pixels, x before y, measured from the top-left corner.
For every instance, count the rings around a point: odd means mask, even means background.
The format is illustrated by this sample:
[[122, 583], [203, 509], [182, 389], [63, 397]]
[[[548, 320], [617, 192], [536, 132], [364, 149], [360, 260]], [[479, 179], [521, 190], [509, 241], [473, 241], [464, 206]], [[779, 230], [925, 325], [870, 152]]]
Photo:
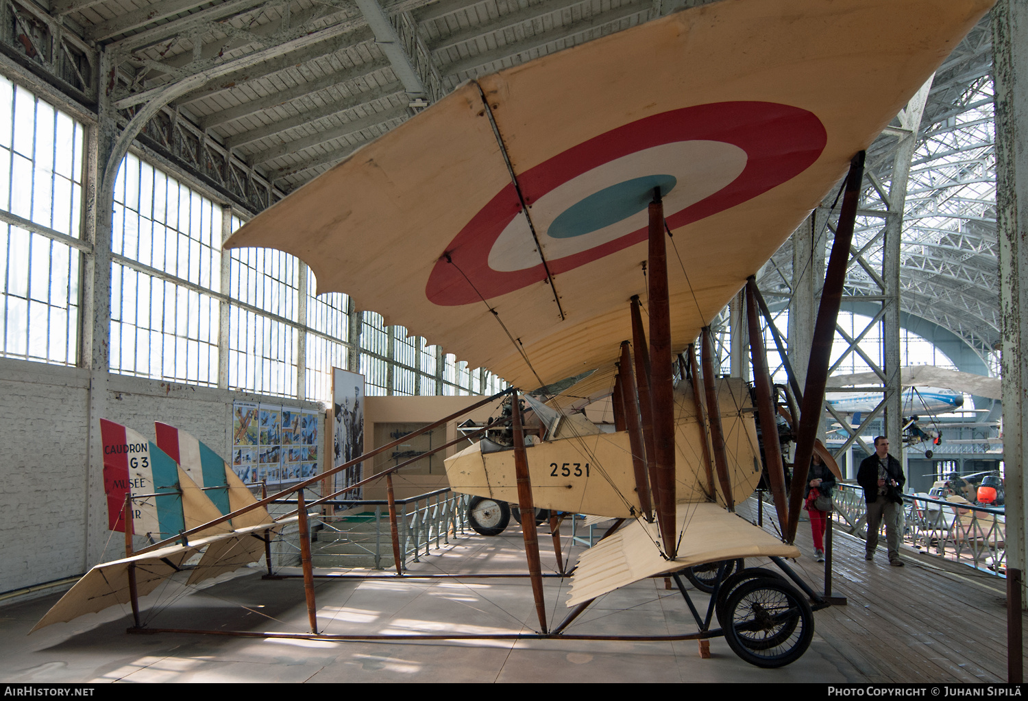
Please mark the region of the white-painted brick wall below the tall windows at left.
[[[313, 402], [107, 376], [89, 417], [89, 372], [0, 358], [0, 593], [74, 576], [123, 553], [107, 529], [103, 455], [89, 459], [89, 428], [99, 419], [153, 437], [153, 422], [186, 430], [223, 457], [233, 400]], [[100, 398], [100, 397], [98, 397]], [[319, 431], [325, 455], [324, 425]], [[142, 544], [140, 544], [142, 545]], [[106, 553], [105, 553], [106, 547]]]

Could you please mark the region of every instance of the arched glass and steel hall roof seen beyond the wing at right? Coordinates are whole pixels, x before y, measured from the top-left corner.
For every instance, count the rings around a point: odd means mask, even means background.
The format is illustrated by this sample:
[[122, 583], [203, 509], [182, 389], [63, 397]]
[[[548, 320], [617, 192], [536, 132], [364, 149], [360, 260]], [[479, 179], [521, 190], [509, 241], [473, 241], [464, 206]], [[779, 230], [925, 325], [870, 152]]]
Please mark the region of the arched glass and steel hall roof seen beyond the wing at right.
[[[952, 331], [991, 374], [997, 374], [1000, 321], [991, 46], [986, 17], [932, 80], [911, 160], [900, 276], [902, 311]], [[884, 250], [882, 194], [889, 191], [893, 153], [903, 134], [896, 119], [868, 151], [853, 247], [871, 270], [850, 268], [847, 295], [880, 294], [874, 276], [882, 270]], [[792, 266], [790, 241], [758, 276], [761, 288], [787, 297]]]

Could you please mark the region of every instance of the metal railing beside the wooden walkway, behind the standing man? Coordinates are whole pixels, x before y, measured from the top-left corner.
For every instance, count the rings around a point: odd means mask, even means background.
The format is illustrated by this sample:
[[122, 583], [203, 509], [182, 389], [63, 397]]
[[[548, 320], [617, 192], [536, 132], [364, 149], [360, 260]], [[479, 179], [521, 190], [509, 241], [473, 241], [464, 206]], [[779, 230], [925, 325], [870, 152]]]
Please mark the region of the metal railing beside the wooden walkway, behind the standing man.
[[[1004, 576], [1006, 521], [995, 509], [904, 494], [904, 541], [925, 553], [962, 562], [983, 572]], [[867, 537], [864, 489], [840, 484], [832, 492], [834, 518], [840, 526]], [[884, 524], [882, 525], [884, 533]]]

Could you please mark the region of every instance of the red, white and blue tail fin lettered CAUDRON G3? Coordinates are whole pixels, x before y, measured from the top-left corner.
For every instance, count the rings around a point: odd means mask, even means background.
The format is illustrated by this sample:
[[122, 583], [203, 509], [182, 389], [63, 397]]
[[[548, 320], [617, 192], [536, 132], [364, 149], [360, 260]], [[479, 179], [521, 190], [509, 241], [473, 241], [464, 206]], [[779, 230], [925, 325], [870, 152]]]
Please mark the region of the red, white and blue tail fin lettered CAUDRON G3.
[[[156, 539], [217, 519], [221, 514], [176, 461], [153, 442], [119, 423], [100, 420], [104, 491], [111, 530], [124, 532], [125, 494], [133, 494], [132, 528]], [[147, 495], [147, 496], [144, 496]], [[221, 524], [197, 535], [229, 532]]]

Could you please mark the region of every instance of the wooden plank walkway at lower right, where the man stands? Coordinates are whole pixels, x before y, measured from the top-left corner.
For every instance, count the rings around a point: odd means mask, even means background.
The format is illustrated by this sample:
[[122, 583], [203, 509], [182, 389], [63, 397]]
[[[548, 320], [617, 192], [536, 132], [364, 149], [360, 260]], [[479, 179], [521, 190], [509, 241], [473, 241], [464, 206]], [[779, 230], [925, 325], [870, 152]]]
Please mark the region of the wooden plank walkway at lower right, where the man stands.
[[[766, 504], [764, 527], [771, 532], [774, 518]], [[817, 611], [815, 633], [866, 681], [1006, 680], [1005, 580], [905, 546], [907, 566], [891, 567], [884, 539], [867, 562], [862, 539], [838, 528], [834, 536], [832, 594], [848, 603]], [[809, 522], [800, 523], [796, 541], [805, 556], [794, 567], [823, 591]]]

